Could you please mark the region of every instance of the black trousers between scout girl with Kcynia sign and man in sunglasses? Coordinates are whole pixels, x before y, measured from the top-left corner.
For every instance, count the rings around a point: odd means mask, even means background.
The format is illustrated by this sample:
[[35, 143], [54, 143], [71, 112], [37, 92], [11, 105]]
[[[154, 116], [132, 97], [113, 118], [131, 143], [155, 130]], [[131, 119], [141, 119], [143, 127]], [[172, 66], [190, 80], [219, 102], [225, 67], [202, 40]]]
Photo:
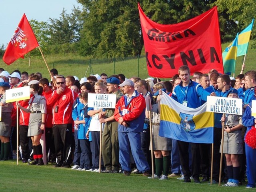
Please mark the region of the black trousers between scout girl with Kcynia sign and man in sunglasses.
[[46, 154], [48, 161], [55, 160], [55, 147], [54, 147], [54, 136], [52, 133], [52, 127], [45, 128], [45, 142], [46, 142]]

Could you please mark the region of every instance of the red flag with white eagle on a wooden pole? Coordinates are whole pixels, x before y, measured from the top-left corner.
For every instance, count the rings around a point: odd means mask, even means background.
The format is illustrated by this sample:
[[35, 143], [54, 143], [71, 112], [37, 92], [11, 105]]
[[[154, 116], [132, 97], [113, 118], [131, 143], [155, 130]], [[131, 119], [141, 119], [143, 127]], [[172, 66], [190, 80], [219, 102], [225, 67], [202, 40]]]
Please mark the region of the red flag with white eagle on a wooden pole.
[[39, 44], [36, 36], [28, 22], [25, 14], [23, 14], [12, 38], [6, 48], [3, 60], [10, 65], [18, 58], [24, 58], [24, 55], [38, 47]]

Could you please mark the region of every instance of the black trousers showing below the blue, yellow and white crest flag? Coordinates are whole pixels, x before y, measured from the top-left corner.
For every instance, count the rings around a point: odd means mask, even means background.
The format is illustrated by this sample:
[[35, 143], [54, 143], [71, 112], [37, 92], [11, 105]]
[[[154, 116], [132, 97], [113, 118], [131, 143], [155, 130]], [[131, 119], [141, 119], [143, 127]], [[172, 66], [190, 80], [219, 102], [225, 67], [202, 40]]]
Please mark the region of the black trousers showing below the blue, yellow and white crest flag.
[[[188, 146], [191, 145], [192, 154], [192, 172], [189, 169]], [[200, 174], [200, 151], [198, 143], [189, 143], [178, 141], [178, 148], [180, 153], [180, 164], [185, 178], [193, 176], [194, 179], [199, 179]]]

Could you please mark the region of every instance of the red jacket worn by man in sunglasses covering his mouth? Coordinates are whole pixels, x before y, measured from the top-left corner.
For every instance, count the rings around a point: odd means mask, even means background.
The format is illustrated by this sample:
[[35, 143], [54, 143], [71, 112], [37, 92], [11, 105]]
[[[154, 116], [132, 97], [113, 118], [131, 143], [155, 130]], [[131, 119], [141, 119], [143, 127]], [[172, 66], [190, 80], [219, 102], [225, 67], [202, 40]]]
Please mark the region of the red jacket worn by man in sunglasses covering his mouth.
[[[68, 87], [64, 92], [57, 94], [56, 91], [46, 100], [47, 106], [52, 106], [52, 124], [72, 124], [72, 106], [76, 96]], [[58, 112], [55, 112], [58, 106]]]

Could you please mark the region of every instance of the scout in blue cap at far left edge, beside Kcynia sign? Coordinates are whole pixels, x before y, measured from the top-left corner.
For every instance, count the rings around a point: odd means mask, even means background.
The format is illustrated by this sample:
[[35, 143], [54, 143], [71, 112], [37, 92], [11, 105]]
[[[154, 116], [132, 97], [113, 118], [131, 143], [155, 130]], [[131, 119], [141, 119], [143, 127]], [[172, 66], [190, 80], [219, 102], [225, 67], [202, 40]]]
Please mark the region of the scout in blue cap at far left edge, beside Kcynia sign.
[[1, 154], [0, 160], [8, 160], [10, 152], [10, 134], [11, 134], [11, 112], [12, 103], [6, 103], [5, 91], [10, 88], [10, 84], [0, 82], [0, 107], [2, 108], [2, 118], [0, 120], [0, 140]]

